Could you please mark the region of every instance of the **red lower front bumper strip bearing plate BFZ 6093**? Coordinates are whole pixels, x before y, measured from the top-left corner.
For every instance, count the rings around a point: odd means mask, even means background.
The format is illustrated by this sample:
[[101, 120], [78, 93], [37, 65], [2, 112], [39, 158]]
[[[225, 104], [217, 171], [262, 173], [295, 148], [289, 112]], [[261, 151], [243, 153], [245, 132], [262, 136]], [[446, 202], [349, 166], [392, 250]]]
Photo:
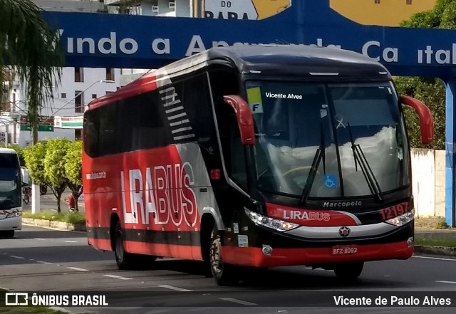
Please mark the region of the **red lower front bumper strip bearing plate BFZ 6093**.
[[[353, 253], [355, 251], [354, 248], [356, 248], [356, 253]], [[400, 241], [388, 244], [363, 244], [324, 248], [271, 247], [270, 254], [266, 254], [264, 251], [264, 246], [262, 248], [223, 246], [222, 256], [225, 263], [239, 266], [322, 266], [353, 261], [407, 259], [413, 255], [413, 244], [409, 245], [407, 241]]]

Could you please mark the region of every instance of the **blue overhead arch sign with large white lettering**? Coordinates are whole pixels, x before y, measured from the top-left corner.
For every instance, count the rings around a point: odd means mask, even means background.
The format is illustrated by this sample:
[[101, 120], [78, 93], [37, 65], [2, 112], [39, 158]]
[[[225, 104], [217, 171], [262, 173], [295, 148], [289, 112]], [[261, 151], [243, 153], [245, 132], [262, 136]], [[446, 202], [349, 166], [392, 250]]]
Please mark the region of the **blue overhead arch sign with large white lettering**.
[[45, 12], [60, 30], [67, 66], [157, 68], [206, 48], [259, 43], [333, 46], [380, 61], [393, 75], [447, 78], [456, 66], [456, 31], [363, 26], [329, 0], [295, 0], [260, 21]]

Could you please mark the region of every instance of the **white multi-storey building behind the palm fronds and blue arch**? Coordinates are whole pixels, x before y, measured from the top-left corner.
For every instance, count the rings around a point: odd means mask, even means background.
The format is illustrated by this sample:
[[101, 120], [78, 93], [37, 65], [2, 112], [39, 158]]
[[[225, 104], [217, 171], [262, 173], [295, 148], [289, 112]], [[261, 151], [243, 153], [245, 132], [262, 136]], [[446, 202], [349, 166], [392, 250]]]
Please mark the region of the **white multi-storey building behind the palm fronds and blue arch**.
[[[33, 0], [43, 10], [107, 12], [100, 0]], [[81, 138], [81, 129], [61, 129], [54, 127], [54, 117], [81, 116], [94, 98], [112, 93], [120, 86], [120, 69], [114, 68], [63, 68], [61, 85], [54, 88], [53, 97], [43, 104], [40, 112], [41, 123], [38, 140], [53, 137], [66, 137], [69, 140]], [[26, 92], [19, 80], [13, 80], [9, 95], [1, 101], [0, 143], [6, 136], [10, 144], [26, 147], [31, 144], [31, 128], [26, 117], [28, 105]], [[21, 115], [18, 121], [10, 117], [10, 112]], [[7, 125], [7, 126], [6, 126]], [[8, 132], [6, 132], [8, 130]]]

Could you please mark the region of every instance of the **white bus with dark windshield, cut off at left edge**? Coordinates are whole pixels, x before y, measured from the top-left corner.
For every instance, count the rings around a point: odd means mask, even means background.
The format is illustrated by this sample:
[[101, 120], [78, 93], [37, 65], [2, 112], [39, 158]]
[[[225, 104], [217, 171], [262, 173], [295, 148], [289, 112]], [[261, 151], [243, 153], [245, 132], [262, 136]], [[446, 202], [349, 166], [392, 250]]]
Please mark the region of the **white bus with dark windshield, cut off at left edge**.
[[22, 227], [22, 186], [28, 171], [11, 148], [0, 148], [0, 237], [12, 238]]

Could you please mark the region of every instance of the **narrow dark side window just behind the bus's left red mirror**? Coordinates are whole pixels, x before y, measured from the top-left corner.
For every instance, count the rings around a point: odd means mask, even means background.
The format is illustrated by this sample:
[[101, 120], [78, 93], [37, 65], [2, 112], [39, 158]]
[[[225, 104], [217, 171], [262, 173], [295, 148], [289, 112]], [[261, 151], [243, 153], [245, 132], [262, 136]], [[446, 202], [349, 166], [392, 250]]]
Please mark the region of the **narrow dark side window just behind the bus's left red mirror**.
[[247, 168], [239, 126], [233, 109], [223, 100], [224, 95], [239, 95], [239, 79], [236, 73], [227, 70], [211, 71], [209, 79], [225, 167], [228, 175], [247, 189]]

